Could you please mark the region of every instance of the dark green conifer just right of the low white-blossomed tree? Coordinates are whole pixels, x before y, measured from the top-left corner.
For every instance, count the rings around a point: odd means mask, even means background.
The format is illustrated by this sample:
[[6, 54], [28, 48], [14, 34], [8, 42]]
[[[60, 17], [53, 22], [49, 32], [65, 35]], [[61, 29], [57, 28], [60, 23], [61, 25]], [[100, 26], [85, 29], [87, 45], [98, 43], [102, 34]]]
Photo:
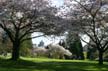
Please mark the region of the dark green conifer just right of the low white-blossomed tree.
[[67, 45], [69, 50], [73, 54], [74, 59], [84, 59], [83, 48], [78, 35], [69, 32], [67, 36]]

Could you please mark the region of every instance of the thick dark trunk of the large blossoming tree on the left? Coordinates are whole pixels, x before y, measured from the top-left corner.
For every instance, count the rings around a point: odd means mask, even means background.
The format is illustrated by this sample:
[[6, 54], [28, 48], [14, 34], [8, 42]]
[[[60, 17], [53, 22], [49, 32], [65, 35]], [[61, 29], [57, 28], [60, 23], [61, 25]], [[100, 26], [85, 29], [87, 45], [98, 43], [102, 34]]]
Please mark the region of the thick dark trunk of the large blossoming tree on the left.
[[19, 59], [19, 49], [20, 49], [20, 43], [14, 42], [13, 48], [12, 48], [12, 58], [11, 60], [17, 61]]

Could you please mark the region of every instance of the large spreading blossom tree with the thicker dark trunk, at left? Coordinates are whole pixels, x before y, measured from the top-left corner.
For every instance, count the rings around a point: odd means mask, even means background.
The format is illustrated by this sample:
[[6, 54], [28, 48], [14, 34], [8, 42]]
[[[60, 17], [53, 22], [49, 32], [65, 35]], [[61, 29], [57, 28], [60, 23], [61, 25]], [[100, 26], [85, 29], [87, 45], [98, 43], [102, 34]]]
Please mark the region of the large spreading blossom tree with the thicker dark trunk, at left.
[[0, 28], [12, 42], [11, 60], [19, 59], [22, 42], [39, 37], [27, 37], [31, 33], [43, 32], [47, 35], [57, 33], [55, 32], [57, 24], [52, 20], [57, 10], [49, 5], [48, 0], [0, 1]]

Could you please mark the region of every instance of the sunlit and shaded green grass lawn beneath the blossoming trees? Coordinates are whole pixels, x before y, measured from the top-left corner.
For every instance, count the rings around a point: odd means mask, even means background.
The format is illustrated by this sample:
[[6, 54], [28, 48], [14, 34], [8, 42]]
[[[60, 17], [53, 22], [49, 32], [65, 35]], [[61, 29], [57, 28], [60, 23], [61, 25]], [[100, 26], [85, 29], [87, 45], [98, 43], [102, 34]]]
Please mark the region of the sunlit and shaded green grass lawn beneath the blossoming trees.
[[18, 61], [0, 59], [0, 71], [108, 71], [108, 63], [96, 61], [21, 58]]

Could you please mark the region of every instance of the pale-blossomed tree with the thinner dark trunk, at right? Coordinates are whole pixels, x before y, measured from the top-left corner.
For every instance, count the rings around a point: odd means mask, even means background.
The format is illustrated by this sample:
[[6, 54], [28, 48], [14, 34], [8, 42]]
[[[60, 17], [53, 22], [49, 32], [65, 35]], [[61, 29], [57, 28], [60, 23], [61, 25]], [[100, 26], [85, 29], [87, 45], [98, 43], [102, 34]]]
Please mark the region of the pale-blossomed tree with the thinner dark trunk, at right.
[[[69, 1], [69, 0], [68, 0]], [[108, 49], [108, 1], [107, 0], [70, 0], [68, 7], [71, 8], [73, 24], [77, 24], [80, 34], [89, 36], [93, 44], [90, 46], [97, 48], [99, 53], [99, 64], [103, 64], [103, 53]], [[72, 9], [73, 8], [73, 9]]]

